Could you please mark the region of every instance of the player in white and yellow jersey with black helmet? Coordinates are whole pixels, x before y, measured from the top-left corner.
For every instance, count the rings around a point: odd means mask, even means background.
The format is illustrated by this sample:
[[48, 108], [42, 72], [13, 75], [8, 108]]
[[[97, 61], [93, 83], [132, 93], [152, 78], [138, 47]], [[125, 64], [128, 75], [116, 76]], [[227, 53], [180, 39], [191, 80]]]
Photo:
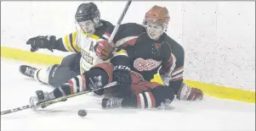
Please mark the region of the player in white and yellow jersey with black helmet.
[[[36, 36], [29, 39], [26, 44], [31, 46], [31, 52], [38, 49], [62, 52], [74, 52], [63, 58], [60, 64], [54, 64], [46, 68], [32, 68], [27, 65], [20, 66], [20, 73], [34, 78], [43, 84], [59, 87], [68, 79], [82, 74], [94, 64], [102, 63], [105, 55], [111, 53], [111, 46], [98, 44], [98, 41], [108, 40], [114, 25], [100, 19], [100, 10], [94, 3], [82, 3], [75, 14], [77, 30], [62, 38], [56, 39], [54, 35]], [[103, 54], [97, 54], [94, 49], [102, 46]], [[102, 53], [102, 51], [100, 51]], [[99, 58], [100, 57], [100, 58]], [[102, 60], [103, 59], [103, 60]]]

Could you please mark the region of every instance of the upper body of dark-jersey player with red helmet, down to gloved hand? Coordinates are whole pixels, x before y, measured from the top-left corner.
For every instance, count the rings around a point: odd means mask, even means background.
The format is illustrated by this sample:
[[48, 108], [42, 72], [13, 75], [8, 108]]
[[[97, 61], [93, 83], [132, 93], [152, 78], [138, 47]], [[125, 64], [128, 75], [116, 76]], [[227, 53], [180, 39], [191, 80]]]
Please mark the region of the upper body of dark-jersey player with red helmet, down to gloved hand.
[[[180, 100], [202, 99], [202, 90], [183, 82], [185, 52], [165, 33], [168, 22], [168, 9], [154, 6], [145, 14], [143, 25], [121, 25], [114, 42], [130, 57], [131, 69], [145, 80], [167, 85]], [[106, 41], [101, 43], [109, 45]]]

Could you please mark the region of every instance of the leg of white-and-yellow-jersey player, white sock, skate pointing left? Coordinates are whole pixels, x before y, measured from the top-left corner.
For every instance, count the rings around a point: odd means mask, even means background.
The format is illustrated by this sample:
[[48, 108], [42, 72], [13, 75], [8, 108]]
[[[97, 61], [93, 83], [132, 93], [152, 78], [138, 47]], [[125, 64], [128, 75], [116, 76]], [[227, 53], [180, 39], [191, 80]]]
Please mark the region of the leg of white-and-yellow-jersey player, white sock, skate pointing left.
[[32, 68], [26, 65], [20, 66], [20, 73], [36, 79], [43, 84], [59, 87], [68, 79], [80, 74], [80, 54], [73, 53], [63, 58], [60, 64], [54, 64], [46, 68]]

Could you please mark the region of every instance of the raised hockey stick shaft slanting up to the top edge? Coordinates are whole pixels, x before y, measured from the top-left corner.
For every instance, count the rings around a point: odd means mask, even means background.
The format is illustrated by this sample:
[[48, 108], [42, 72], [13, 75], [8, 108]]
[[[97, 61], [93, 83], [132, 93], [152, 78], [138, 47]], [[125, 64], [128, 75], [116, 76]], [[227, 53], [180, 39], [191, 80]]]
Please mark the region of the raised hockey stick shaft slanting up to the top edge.
[[[129, 8], [129, 6], [130, 6], [131, 3], [132, 3], [132, 1], [128, 1], [128, 2], [126, 3], [125, 8], [124, 8], [123, 11], [122, 11], [122, 14], [121, 14], [120, 18], [119, 18], [118, 21], [117, 21], [117, 25], [115, 26], [114, 30], [113, 30], [112, 33], [111, 33], [111, 37], [110, 37], [110, 39], [109, 39], [109, 41], [108, 41], [109, 43], [111, 43], [111, 42], [113, 41], [114, 36], [117, 34], [117, 30], [118, 30], [119, 26], [121, 25], [122, 19], [124, 18], [124, 15], [127, 13], [128, 8]], [[113, 46], [113, 45], [112, 45], [112, 46]]]

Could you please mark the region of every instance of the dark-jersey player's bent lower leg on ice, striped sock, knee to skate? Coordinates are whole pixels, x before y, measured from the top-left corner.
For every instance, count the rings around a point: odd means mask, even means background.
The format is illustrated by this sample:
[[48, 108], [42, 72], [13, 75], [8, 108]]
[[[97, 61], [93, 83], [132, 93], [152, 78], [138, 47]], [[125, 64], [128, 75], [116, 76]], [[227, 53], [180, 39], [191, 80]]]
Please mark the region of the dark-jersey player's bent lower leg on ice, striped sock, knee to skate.
[[158, 108], [163, 109], [174, 100], [174, 91], [171, 88], [158, 86], [150, 91], [137, 95], [120, 97], [105, 97], [101, 106], [103, 108], [128, 107], [128, 108]]

